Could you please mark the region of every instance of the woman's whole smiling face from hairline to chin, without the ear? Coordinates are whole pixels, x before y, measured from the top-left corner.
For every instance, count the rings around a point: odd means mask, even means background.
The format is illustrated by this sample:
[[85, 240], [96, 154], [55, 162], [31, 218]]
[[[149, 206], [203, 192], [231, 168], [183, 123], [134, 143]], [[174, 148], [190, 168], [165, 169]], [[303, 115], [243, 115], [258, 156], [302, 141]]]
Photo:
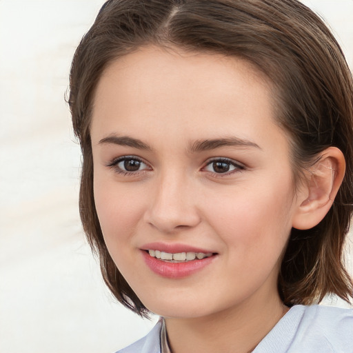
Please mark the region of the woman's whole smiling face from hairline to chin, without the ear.
[[147, 47], [105, 70], [94, 200], [112, 259], [152, 312], [200, 317], [278, 297], [297, 202], [273, 103], [259, 72], [218, 54]]

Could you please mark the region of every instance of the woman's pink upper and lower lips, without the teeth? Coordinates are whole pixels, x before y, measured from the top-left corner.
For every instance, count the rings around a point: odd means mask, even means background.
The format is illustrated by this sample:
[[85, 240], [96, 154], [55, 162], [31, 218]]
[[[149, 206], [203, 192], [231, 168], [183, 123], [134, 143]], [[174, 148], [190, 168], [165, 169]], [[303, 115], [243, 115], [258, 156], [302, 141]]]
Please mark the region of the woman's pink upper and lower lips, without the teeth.
[[172, 254], [179, 252], [203, 252], [204, 254], [207, 254], [210, 251], [182, 244], [149, 243], [143, 245], [141, 253], [148, 267], [154, 273], [169, 279], [181, 279], [183, 277], [190, 276], [191, 274], [194, 274], [195, 272], [198, 272], [208, 266], [216, 257], [215, 255], [212, 255], [210, 257], [205, 257], [202, 260], [194, 259], [192, 261], [172, 263], [150, 256], [148, 251], [145, 251], [149, 249], [169, 252]]

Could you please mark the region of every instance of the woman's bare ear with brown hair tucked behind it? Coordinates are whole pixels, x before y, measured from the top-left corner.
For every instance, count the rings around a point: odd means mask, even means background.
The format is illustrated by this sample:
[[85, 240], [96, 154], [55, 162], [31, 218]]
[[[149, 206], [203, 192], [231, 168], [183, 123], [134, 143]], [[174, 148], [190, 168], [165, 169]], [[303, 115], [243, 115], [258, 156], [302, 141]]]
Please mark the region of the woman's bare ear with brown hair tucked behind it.
[[345, 174], [345, 158], [341, 150], [330, 147], [307, 172], [297, 194], [293, 228], [306, 230], [319, 224], [330, 210]]

